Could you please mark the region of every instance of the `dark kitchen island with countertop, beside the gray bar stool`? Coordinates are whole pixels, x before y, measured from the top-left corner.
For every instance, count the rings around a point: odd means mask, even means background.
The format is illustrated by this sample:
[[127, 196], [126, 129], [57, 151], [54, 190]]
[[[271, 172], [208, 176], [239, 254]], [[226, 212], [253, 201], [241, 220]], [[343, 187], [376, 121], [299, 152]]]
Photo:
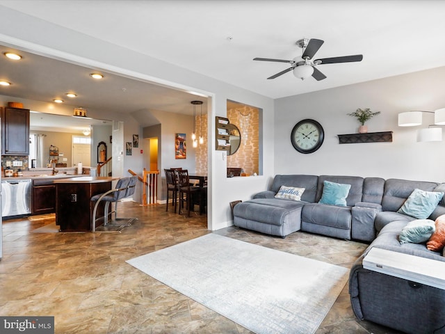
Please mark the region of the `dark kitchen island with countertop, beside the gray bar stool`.
[[[92, 196], [111, 190], [113, 177], [82, 176], [54, 180], [56, 184], [56, 225], [62, 232], [92, 230]], [[104, 205], [99, 205], [103, 214]]]

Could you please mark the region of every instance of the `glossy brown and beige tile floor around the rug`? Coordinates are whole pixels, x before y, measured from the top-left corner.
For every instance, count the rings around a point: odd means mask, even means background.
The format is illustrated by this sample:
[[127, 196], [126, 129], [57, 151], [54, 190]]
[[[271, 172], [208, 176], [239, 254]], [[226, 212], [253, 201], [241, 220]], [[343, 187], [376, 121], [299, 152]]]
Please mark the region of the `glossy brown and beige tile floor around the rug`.
[[[51, 223], [3, 221], [0, 315], [52, 315], [56, 333], [233, 333], [250, 331], [131, 267], [125, 260], [210, 233], [207, 217], [164, 205], [124, 202], [138, 221], [121, 233], [36, 233]], [[286, 239], [238, 228], [215, 233], [350, 267], [366, 244], [296, 232]], [[318, 328], [322, 333], [395, 334], [357, 321], [348, 285]]]

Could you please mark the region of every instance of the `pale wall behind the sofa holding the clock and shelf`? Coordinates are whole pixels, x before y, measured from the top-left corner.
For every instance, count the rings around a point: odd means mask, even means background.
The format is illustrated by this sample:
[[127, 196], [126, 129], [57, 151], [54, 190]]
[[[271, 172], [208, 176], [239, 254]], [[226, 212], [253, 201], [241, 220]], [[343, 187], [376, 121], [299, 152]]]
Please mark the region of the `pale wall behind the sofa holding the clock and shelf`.
[[[434, 111], [445, 106], [445, 67], [275, 101], [275, 173], [359, 175], [445, 182], [445, 142], [417, 143], [416, 129], [434, 122], [423, 113], [423, 126], [398, 127], [403, 111]], [[381, 114], [369, 132], [393, 132], [392, 143], [339, 144], [337, 134], [357, 133], [359, 122], [347, 113], [371, 108]], [[290, 135], [304, 118], [321, 122], [325, 141], [312, 154], [293, 149]], [[445, 138], [445, 136], [444, 136]]]

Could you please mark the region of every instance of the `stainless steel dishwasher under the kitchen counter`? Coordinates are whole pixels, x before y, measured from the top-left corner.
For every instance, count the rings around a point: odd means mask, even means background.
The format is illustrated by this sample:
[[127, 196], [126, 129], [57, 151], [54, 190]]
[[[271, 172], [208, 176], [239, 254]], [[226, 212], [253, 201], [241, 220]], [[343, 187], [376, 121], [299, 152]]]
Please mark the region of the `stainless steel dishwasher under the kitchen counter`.
[[1, 180], [1, 216], [31, 214], [31, 179]]

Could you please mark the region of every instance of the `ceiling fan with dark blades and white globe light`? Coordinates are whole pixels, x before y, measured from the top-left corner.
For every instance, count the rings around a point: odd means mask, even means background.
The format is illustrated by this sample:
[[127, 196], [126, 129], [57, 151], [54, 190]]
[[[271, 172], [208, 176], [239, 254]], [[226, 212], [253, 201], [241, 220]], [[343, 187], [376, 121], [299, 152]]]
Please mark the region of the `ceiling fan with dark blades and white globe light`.
[[323, 40], [317, 40], [315, 38], [308, 39], [302, 38], [301, 40], [297, 40], [296, 44], [298, 47], [303, 49], [303, 53], [301, 58], [296, 57], [293, 58], [292, 61], [286, 61], [284, 59], [270, 59], [270, 58], [253, 58], [254, 61], [276, 61], [280, 63], [290, 63], [291, 67], [286, 68], [286, 70], [274, 74], [272, 77], [268, 77], [267, 79], [275, 79], [280, 77], [280, 75], [287, 73], [293, 70], [293, 75], [302, 80], [310, 77], [314, 77], [317, 81], [326, 79], [325, 74], [320, 72], [316, 66], [323, 64], [335, 64], [335, 63], [352, 63], [355, 61], [362, 61], [362, 54], [355, 54], [353, 56], [341, 56], [341, 57], [332, 57], [332, 58], [320, 58], [312, 61], [312, 57], [316, 54], [318, 49], [320, 49], [321, 45], [323, 45]]

